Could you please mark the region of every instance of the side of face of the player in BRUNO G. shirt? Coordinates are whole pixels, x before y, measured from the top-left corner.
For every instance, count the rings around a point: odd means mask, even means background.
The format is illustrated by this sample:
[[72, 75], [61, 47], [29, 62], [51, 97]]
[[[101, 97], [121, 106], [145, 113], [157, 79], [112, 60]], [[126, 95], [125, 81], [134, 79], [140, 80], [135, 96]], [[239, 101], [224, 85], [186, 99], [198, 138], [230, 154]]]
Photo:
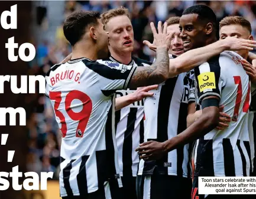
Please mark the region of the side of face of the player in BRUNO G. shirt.
[[98, 58], [107, 58], [109, 56], [109, 36], [108, 32], [103, 30], [103, 24], [98, 19], [99, 25], [96, 27], [98, 32], [97, 44], [98, 44]]

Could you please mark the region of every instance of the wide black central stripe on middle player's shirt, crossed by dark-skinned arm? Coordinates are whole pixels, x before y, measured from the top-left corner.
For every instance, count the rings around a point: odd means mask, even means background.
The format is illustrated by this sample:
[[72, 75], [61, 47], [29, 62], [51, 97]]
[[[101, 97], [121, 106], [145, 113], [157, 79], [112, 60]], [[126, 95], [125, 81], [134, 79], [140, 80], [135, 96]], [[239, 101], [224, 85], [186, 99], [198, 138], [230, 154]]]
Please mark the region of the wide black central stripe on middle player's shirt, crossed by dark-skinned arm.
[[[168, 79], [161, 87], [158, 113], [157, 113], [157, 141], [164, 142], [168, 140], [168, 119], [171, 99], [173, 97], [174, 87], [179, 76]], [[168, 162], [168, 154], [157, 160], [159, 172], [168, 174], [168, 167], [164, 167], [164, 163]]]

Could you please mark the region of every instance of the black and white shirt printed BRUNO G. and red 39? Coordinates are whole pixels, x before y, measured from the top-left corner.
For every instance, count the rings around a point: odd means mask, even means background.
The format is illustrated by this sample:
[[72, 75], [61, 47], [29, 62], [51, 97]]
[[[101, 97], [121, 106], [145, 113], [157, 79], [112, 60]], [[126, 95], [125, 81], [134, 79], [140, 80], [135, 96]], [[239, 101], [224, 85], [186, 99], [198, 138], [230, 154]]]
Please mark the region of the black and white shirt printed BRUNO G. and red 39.
[[115, 90], [127, 89], [135, 68], [79, 58], [48, 71], [46, 95], [62, 133], [61, 197], [86, 197], [109, 178], [122, 186], [115, 139]]

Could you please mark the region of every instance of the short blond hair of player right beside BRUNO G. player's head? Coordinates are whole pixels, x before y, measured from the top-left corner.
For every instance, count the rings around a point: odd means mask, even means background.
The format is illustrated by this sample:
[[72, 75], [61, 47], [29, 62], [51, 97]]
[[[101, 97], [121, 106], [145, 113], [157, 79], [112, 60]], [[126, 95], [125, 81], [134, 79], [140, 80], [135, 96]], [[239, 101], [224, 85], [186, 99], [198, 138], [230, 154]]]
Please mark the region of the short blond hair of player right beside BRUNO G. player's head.
[[104, 30], [106, 28], [105, 27], [106, 24], [109, 22], [109, 19], [111, 19], [113, 17], [117, 17], [117, 16], [122, 16], [122, 15], [125, 15], [129, 19], [131, 19], [129, 16], [128, 9], [123, 6], [121, 6], [121, 8], [110, 9], [109, 11], [103, 12], [101, 14], [101, 21], [102, 21]]

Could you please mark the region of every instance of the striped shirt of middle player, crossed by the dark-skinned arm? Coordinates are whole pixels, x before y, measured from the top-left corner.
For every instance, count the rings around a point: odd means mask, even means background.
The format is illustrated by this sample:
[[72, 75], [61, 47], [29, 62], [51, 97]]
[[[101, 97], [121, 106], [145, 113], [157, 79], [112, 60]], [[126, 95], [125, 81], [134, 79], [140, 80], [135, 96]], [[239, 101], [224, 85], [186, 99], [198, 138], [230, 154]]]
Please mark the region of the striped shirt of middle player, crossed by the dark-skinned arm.
[[[171, 56], [170, 58], [175, 58]], [[189, 90], [192, 86], [193, 73], [182, 73], [161, 83], [153, 90], [154, 96], [145, 99], [144, 141], [164, 142], [177, 136], [186, 129]], [[140, 160], [138, 175], [153, 174], [154, 169], [160, 174], [190, 177], [189, 144], [168, 152], [157, 161]]]

